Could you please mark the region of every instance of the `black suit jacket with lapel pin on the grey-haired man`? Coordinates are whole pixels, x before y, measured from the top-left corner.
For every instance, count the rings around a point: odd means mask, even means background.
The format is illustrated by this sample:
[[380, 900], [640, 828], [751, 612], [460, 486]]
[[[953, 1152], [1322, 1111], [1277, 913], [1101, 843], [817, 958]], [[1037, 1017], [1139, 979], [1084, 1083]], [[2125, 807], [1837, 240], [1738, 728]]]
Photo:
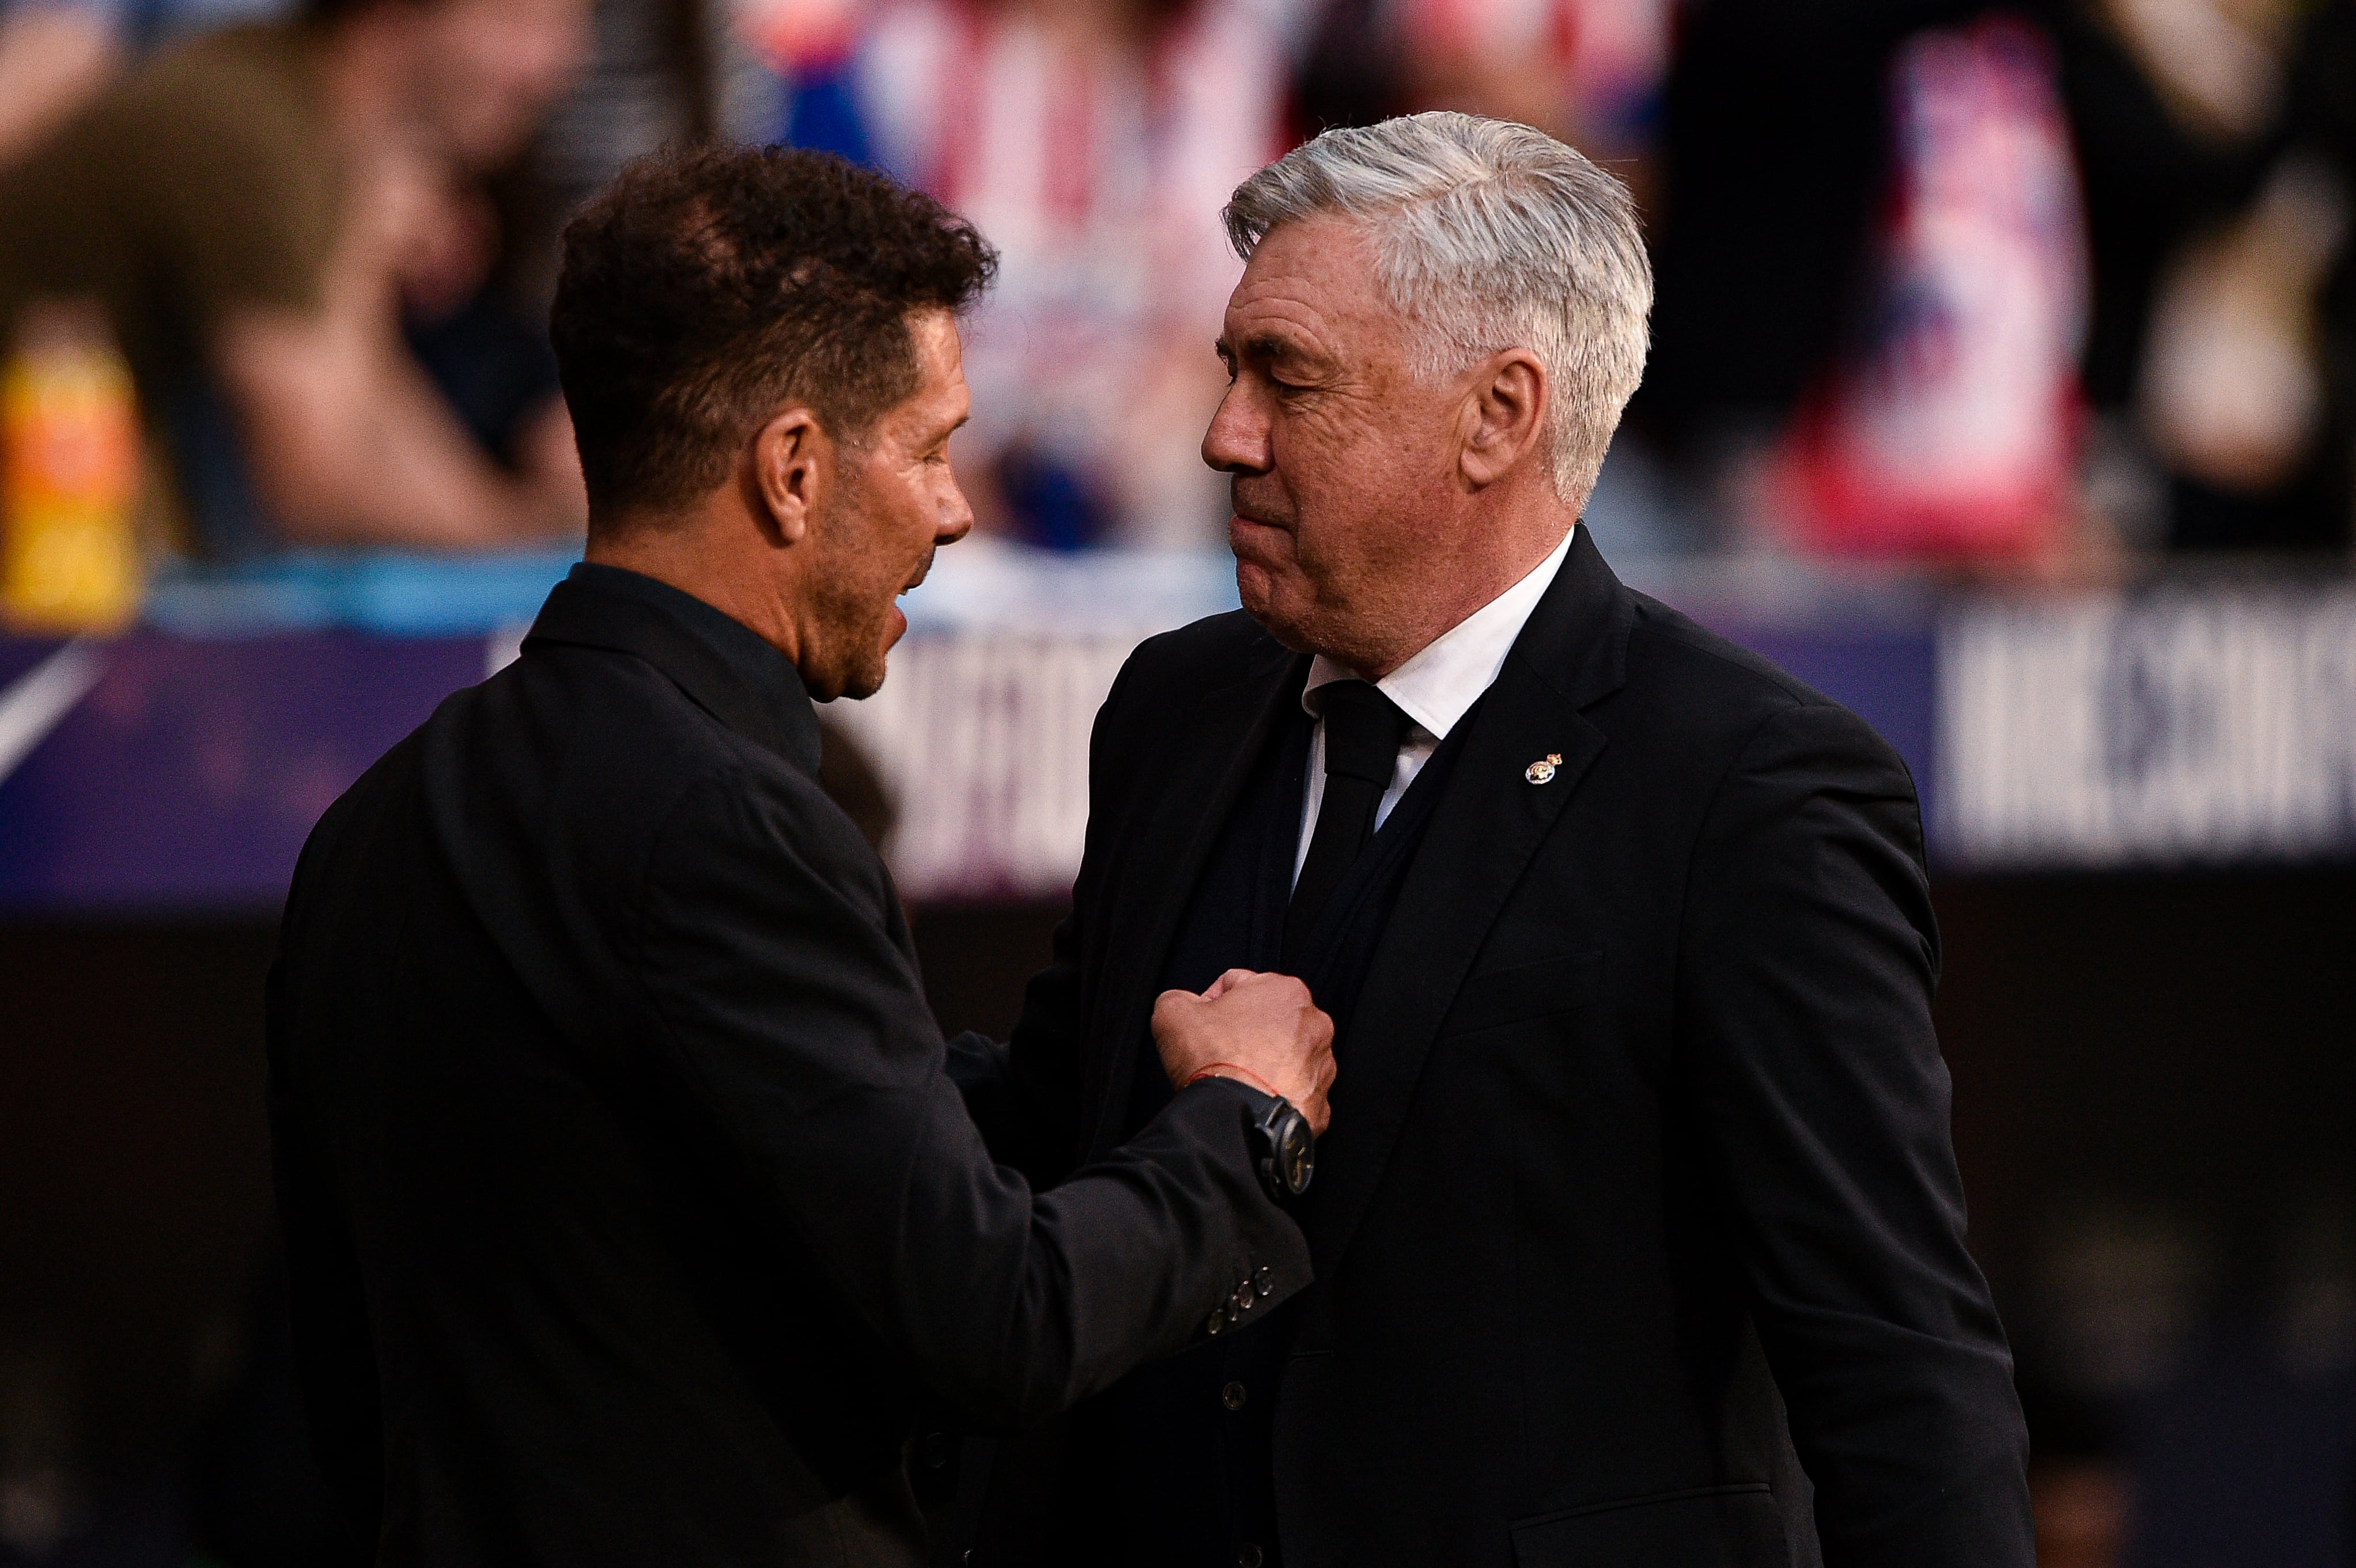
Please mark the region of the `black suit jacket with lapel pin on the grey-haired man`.
[[[1055, 963], [957, 1064], [1034, 1180], [1103, 1154], [1152, 1069], [1171, 932], [1305, 673], [1227, 614], [1105, 702]], [[1465, 723], [1336, 1043], [1286, 1568], [1781, 1568], [1814, 1549], [1788, 1443], [1826, 1563], [2026, 1568], [1904, 763], [1586, 530]]]

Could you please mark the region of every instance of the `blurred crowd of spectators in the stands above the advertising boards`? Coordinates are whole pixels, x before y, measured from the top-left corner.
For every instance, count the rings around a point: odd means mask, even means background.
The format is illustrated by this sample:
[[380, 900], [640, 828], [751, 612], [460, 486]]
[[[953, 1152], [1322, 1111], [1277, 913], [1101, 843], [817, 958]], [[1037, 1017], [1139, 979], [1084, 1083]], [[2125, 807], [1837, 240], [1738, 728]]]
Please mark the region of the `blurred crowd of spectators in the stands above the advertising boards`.
[[575, 537], [565, 214], [709, 137], [879, 162], [1004, 250], [959, 454], [987, 530], [1216, 544], [1218, 207], [1416, 108], [1637, 191], [1607, 549], [2099, 570], [2356, 530], [2356, 0], [5, 7], [12, 386], [104, 337], [139, 527], [200, 560]]

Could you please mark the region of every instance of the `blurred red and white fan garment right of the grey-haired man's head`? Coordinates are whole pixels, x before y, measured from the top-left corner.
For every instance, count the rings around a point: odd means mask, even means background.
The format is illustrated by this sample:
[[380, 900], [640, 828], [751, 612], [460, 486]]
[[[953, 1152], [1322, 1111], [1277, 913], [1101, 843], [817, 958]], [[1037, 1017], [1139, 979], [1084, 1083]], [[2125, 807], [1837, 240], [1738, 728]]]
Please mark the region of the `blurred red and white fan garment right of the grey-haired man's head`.
[[2054, 52], [1925, 28], [1890, 80], [1864, 294], [1765, 497], [1821, 551], [2031, 560], [2069, 537], [2085, 245]]

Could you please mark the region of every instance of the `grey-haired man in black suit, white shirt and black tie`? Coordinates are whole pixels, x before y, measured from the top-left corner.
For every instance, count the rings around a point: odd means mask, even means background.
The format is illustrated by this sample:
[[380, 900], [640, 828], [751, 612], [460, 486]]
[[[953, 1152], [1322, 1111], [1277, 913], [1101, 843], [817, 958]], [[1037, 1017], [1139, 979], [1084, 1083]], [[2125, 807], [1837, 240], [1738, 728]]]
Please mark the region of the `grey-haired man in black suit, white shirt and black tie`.
[[1579, 527], [1644, 363], [1628, 193], [1430, 113], [1225, 219], [1244, 612], [1124, 669], [1055, 965], [959, 1076], [1053, 1180], [1169, 1095], [1157, 991], [1303, 977], [1317, 1283], [1086, 1406], [1030, 1523], [1001, 1455], [975, 1561], [2026, 1568], [1913, 782]]

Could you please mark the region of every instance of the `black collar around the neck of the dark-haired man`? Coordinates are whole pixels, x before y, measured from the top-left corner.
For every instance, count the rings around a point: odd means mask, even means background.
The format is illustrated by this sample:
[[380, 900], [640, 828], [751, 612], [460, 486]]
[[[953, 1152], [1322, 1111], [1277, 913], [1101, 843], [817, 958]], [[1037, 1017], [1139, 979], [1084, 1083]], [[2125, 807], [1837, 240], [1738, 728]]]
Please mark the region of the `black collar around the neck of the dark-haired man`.
[[580, 563], [523, 638], [646, 659], [744, 739], [818, 777], [818, 711], [794, 662], [693, 593], [622, 567]]

